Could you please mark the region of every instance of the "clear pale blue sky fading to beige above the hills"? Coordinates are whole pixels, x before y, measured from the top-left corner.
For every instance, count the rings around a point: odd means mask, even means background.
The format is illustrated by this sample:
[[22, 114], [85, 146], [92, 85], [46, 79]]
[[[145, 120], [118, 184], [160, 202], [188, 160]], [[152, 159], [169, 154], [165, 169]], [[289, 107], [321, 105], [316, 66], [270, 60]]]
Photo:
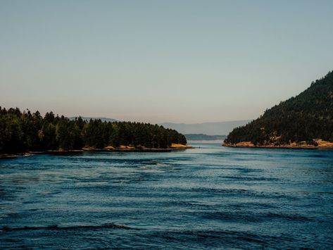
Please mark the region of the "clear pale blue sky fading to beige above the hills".
[[247, 120], [333, 70], [333, 1], [0, 0], [0, 106]]

